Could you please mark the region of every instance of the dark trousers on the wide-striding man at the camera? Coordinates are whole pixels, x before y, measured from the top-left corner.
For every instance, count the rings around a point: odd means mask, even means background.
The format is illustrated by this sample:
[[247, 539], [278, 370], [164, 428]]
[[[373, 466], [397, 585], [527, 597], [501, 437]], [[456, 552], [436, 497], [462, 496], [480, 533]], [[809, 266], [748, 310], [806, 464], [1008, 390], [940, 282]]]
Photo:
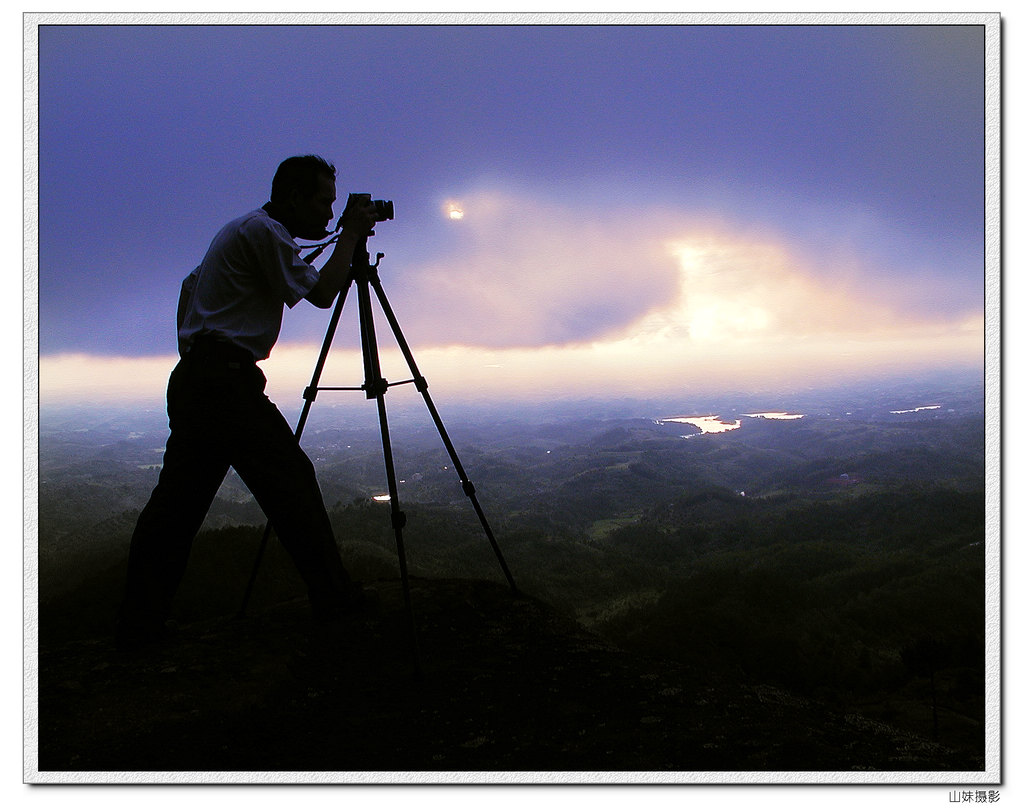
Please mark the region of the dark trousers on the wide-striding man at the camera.
[[343, 602], [352, 584], [313, 465], [265, 387], [251, 358], [219, 343], [197, 346], [171, 373], [171, 433], [157, 487], [132, 535], [122, 625], [163, 624], [228, 467], [273, 524], [313, 611], [331, 612]]

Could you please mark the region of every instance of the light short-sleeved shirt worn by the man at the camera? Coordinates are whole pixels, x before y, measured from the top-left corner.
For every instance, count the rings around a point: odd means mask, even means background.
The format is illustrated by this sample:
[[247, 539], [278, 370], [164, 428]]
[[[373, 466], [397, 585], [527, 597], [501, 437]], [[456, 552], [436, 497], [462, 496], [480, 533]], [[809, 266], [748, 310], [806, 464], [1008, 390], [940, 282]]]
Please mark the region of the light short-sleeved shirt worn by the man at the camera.
[[[298, 303], [319, 273], [299, 257], [287, 228], [259, 208], [224, 225], [182, 284], [178, 350], [202, 335], [233, 343], [258, 361], [281, 334], [285, 304]], [[189, 288], [191, 288], [189, 290]]]

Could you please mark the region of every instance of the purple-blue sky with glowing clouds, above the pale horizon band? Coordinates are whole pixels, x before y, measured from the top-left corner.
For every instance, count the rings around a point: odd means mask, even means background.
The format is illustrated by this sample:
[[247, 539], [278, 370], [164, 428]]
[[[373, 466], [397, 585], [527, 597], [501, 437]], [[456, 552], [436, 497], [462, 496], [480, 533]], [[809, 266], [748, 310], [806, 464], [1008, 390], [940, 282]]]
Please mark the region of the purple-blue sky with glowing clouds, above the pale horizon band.
[[[837, 307], [845, 340], [962, 334], [984, 306], [984, 34], [45, 26], [41, 357], [172, 354], [181, 278], [310, 152], [340, 195], [394, 200], [372, 250], [418, 346], [573, 347], [657, 316], [683, 352], [835, 338], [787, 306]], [[778, 301], [744, 303], [752, 279]], [[325, 328], [300, 304], [282, 345]]]

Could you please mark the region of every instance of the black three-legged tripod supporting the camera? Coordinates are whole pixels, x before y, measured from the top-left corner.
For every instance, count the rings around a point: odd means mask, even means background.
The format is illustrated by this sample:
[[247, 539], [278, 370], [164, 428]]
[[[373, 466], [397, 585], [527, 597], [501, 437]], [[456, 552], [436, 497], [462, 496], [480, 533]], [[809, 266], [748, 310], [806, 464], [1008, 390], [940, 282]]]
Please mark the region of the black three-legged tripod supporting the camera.
[[[372, 236], [373, 231], [371, 231], [370, 235]], [[323, 248], [321, 248], [321, 250]], [[318, 255], [318, 251], [316, 252], [316, 255]], [[459, 460], [455, 445], [452, 443], [447, 430], [444, 429], [444, 424], [441, 422], [437, 409], [434, 407], [433, 399], [427, 389], [427, 380], [424, 379], [422, 374], [420, 374], [416, 360], [413, 358], [412, 349], [410, 349], [409, 343], [401, 332], [401, 328], [398, 326], [398, 321], [395, 317], [394, 310], [391, 308], [391, 304], [388, 302], [387, 296], [384, 294], [384, 288], [381, 285], [380, 275], [377, 272], [377, 267], [380, 265], [380, 260], [383, 256], [383, 253], [378, 253], [377, 260], [371, 264], [370, 254], [367, 251], [366, 239], [356, 245], [356, 248], [352, 253], [352, 266], [349, 271], [348, 280], [338, 293], [338, 302], [335, 304], [334, 312], [331, 315], [331, 322], [328, 325], [327, 334], [324, 337], [324, 344], [321, 347], [319, 356], [316, 359], [312, 378], [302, 394], [305, 403], [302, 406], [302, 412], [299, 415], [299, 420], [295, 427], [295, 437], [296, 440], [301, 438], [302, 431], [305, 429], [306, 420], [309, 417], [309, 411], [312, 408], [313, 401], [316, 399], [316, 394], [322, 390], [362, 390], [366, 392], [368, 399], [377, 400], [377, 415], [380, 422], [381, 444], [384, 453], [384, 469], [387, 474], [388, 495], [391, 507], [391, 528], [394, 531], [395, 545], [398, 553], [398, 568], [401, 574], [402, 599], [406, 607], [413, 663], [416, 673], [419, 675], [420, 667], [419, 652], [417, 650], [416, 641], [416, 625], [413, 618], [413, 602], [409, 587], [409, 568], [406, 562], [406, 546], [402, 540], [402, 528], [406, 526], [406, 514], [401, 511], [401, 506], [398, 500], [398, 483], [394, 469], [394, 457], [391, 452], [391, 436], [388, 430], [387, 408], [384, 403], [384, 394], [387, 392], [389, 387], [393, 385], [407, 385], [410, 383], [416, 385], [416, 389], [423, 396], [423, 400], [427, 406], [430, 417], [433, 419], [434, 426], [437, 428], [437, 432], [444, 444], [444, 449], [447, 451], [447, 454], [452, 459], [452, 464], [459, 475], [459, 479], [462, 481], [463, 491], [473, 504], [476, 515], [480, 520], [480, 525], [490, 543], [490, 547], [495, 552], [495, 556], [497, 557], [498, 563], [502, 568], [502, 572], [505, 574], [505, 579], [509, 583], [509, 587], [514, 593], [518, 592], [518, 589], [516, 588], [515, 581], [512, 579], [512, 573], [505, 562], [505, 557], [502, 555], [501, 548], [498, 547], [498, 541], [495, 539], [494, 531], [490, 529], [487, 518], [483, 513], [483, 509], [480, 507], [480, 503], [476, 498], [476, 488], [466, 475], [466, 470], [463, 468], [462, 462]], [[331, 352], [331, 344], [334, 342], [335, 332], [337, 331], [338, 324], [341, 321], [341, 311], [345, 305], [345, 300], [348, 297], [348, 292], [353, 285], [355, 286], [358, 305], [359, 341], [362, 349], [364, 383], [358, 387], [321, 386], [321, 375], [324, 372], [328, 355]], [[406, 358], [410, 373], [413, 375], [411, 379], [402, 380], [401, 382], [388, 382], [381, 375], [380, 352], [377, 346], [377, 333], [374, 328], [373, 301], [370, 294], [371, 289], [375, 293], [381, 310], [384, 312], [384, 316], [387, 318], [388, 325], [390, 326], [391, 331], [394, 334], [394, 338], [398, 343], [398, 347], [401, 349], [401, 353]], [[246, 607], [248, 606], [249, 598], [252, 595], [253, 585], [256, 581], [256, 574], [259, 571], [263, 554], [266, 550], [267, 541], [272, 529], [273, 526], [268, 522], [263, 531], [263, 539], [260, 542], [259, 552], [256, 556], [256, 562], [253, 565], [252, 574], [249, 577], [249, 584], [246, 586], [245, 596], [239, 610], [240, 615], [245, 613]]]

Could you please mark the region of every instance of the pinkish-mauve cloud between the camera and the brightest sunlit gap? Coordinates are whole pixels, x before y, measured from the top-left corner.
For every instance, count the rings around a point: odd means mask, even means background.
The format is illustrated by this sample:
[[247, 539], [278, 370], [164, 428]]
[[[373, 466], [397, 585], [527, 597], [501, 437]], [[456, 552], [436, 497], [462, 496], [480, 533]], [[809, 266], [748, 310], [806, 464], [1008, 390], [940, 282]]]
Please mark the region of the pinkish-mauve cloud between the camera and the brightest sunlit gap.
[[643, 233], [643, 214], [603, 213], [478, 193], [450, 201], [463, 218], [446, 254], [410, 273], [403, 322], [431, 342], [484, 347], [597, 339], [672, 301], [675, 261]]

